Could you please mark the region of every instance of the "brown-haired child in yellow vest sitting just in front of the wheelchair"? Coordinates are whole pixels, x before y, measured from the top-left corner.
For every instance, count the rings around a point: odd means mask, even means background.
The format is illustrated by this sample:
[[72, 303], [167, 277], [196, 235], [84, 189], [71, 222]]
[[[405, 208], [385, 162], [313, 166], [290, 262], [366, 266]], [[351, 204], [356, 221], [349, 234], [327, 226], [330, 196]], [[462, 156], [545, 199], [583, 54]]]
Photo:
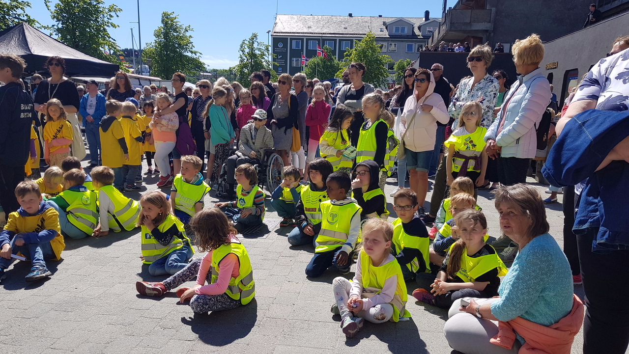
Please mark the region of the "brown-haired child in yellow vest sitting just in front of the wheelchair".
[[264, 192], [258, 187], [258, 174], [249, 163], [236, 168], [236, 201], [216, 203], [225, 216], [234, 223], [240, 232], [262, 225], [264, 220]]

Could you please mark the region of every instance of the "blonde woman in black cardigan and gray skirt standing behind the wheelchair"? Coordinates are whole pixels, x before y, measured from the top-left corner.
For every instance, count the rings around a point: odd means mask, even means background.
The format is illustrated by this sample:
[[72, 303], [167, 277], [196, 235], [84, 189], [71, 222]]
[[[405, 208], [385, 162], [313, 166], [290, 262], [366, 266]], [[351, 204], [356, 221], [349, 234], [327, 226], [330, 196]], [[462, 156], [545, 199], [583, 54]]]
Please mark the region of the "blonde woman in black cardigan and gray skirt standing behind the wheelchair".
[[273, 132], [273, 146], [282, 157], [284, 166], [291, 165], [292, 128], [299, 129], [299, 102], [297, 96], [291, 94], [291, 86], [291, 75], [279, 75], [277, 91], [271, 97], [267, 109], [267, 118]]

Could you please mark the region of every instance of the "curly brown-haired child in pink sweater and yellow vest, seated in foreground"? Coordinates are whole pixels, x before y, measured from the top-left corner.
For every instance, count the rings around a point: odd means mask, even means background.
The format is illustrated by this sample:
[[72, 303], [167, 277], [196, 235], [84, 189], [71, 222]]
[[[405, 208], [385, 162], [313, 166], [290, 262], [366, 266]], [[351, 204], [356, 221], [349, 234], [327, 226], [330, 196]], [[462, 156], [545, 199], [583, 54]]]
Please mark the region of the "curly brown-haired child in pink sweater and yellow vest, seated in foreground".
[[136, 282], [138, 293], [160, 297], [196, 279], [197, 284], [192, 289], [177, 289], [179, 302], [190, 299], [194, 313], [231, 310], [252, 301], [255, 284], [249, 255], [225, 214], [217, 208], [204, 209], [190, 219], [189, 226], [197, 237], [199, 250], [208, 253], [203, 258], [194, 258], [186, 268], [164, 282]]

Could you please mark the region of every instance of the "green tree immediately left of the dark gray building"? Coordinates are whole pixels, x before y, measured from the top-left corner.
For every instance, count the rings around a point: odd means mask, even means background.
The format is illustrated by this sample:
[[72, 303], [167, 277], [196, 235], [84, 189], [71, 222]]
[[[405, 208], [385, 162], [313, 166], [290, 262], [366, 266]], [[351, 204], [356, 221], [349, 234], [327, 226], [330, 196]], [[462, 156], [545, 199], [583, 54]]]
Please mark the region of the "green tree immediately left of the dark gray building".
[[[230, 67], [232, 72], [235, 72], [238, 82], [243, 87], [251, 86], [250, 76], [253, 72], [267, 69], [271, 73], [271, 80], [277, 79], [277, 74], [274, 72], [273, 62], [269, 60], [270, 57], [270, 45], [258, 40], [258, 34], [252, 33], [252, 35], [243, 40], [240, 43], [238, 49], [240, 53], [238, 55], [238, 64]], [[275, 55], [273, 55], [275, 57]]]

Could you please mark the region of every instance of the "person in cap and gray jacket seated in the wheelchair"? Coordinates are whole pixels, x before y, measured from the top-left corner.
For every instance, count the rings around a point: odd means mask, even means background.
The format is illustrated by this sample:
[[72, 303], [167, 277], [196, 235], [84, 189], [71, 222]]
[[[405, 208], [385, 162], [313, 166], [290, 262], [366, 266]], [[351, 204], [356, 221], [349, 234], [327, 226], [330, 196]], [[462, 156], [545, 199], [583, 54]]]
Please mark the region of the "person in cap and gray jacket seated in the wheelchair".
[[273, 148], [273, 135], [265, 126], [267, 113], [264, 109], [257, 109], [252, 118], [253, 120], [240, 130], [238, 151], [226, 162], [228, 188], [225, 193], [230, 197], [234, 195], [236, 167], [244, 163], [259, 164], [264, 158], [264, 150]]

